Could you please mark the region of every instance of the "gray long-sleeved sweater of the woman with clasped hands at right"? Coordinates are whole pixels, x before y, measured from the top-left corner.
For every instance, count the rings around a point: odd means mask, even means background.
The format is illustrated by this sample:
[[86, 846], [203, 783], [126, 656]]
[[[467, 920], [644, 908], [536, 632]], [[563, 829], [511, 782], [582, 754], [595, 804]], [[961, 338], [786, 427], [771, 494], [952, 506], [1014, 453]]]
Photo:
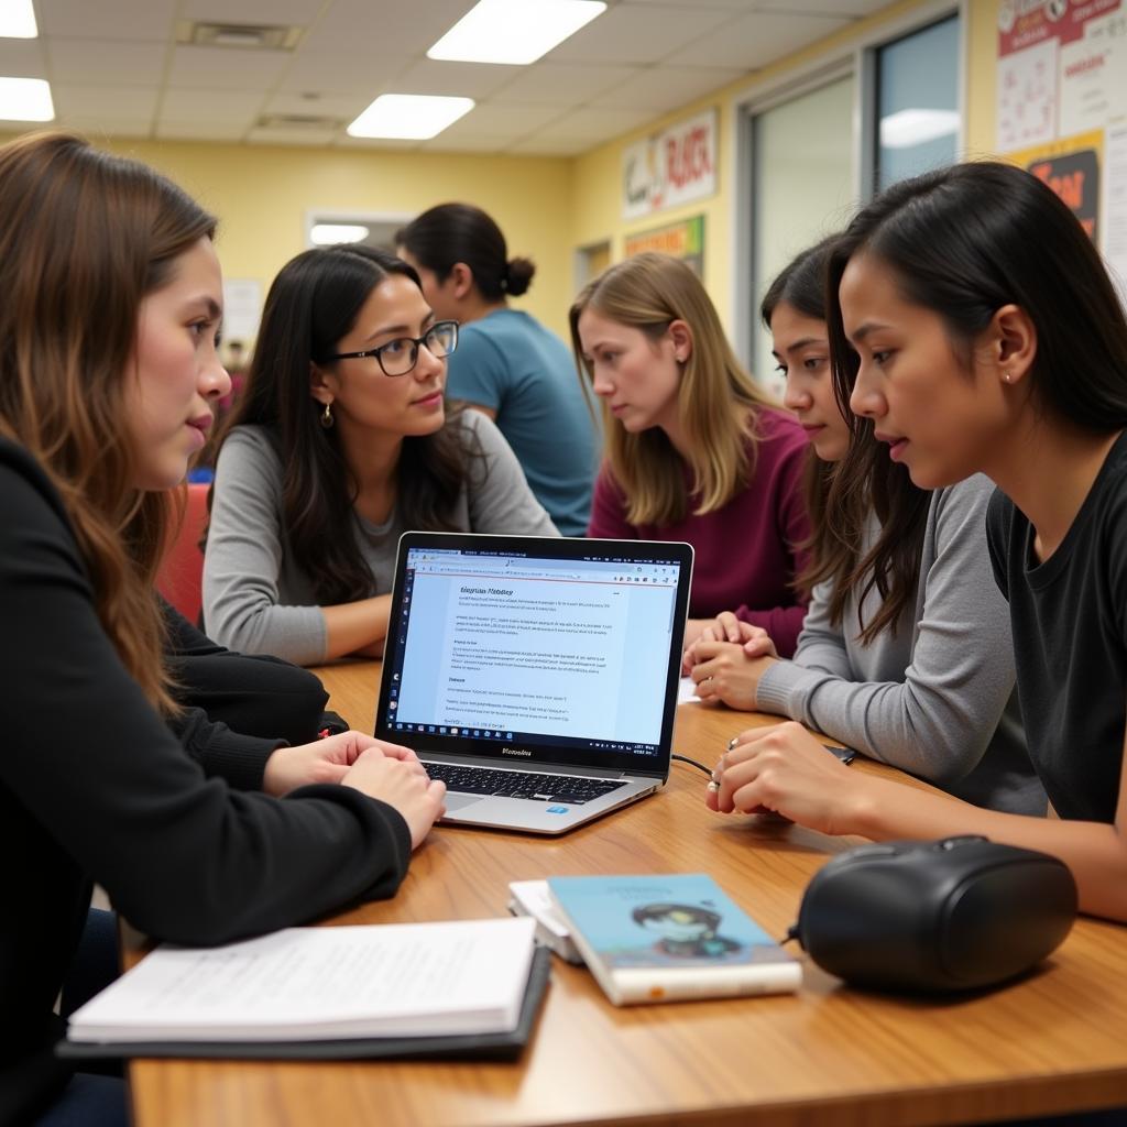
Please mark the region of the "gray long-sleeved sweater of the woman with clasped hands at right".
[[[756, 706], [977, 806], [1045, 814], [1014, 691], [1009, 607], [986, 549], [993, 489], [979, 474], [934, 491], [915, 602], [895, 633], [861, 645], [855, 595], [834, 628], [828, 587], [817, 587], [795, 659], [767, 671]], [[864, 550], [878, 532], [873, 517]], [[866, 621], [878, 605], [870, 592]]]

